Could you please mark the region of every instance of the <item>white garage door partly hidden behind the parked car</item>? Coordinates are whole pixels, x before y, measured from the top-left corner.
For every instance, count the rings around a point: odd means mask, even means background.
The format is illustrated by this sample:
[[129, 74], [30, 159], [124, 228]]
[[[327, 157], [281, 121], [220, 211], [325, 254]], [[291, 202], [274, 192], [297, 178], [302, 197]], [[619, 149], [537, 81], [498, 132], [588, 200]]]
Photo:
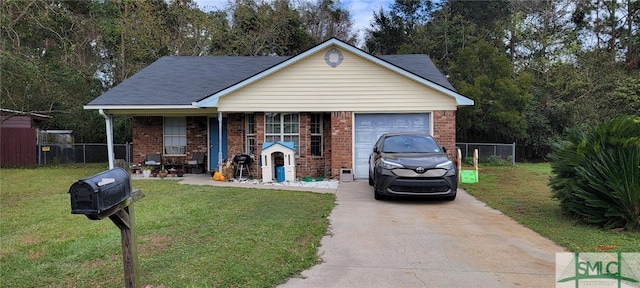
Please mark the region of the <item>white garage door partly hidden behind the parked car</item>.
[[378, 137], [390, 132], [431, 133], [429, 113], [420, 114], [356, 114], [355, 178], [369, 177], [369, 154]]

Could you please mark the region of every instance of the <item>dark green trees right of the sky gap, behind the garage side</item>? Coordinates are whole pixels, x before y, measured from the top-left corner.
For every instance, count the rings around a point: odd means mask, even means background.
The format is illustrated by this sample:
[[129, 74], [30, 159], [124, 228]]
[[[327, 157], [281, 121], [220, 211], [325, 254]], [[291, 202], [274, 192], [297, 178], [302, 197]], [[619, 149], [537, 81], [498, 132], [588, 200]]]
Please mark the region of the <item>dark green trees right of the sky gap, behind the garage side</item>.
[[640, 113], [640, 1], [396, 0], [365, 47], [425, 53], [475, 105], [461, 142], [517, 142], [546, 159], [566, 129]]

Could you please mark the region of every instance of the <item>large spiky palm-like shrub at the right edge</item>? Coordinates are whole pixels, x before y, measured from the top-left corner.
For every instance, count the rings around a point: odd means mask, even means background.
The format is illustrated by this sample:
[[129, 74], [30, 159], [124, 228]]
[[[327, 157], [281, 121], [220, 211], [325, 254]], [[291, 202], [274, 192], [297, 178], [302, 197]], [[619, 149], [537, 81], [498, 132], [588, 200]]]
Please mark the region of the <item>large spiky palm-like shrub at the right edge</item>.
[[640, 228], [640, 117], [571, 129], [551, 159], [549, 185], [564, 212], [604, 228]]

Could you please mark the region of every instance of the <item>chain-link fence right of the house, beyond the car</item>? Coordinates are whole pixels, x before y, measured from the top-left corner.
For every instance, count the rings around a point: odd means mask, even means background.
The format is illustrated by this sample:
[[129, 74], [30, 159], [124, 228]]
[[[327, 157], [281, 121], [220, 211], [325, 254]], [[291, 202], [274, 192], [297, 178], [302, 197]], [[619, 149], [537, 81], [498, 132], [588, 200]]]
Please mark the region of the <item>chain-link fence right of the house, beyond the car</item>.
[[456, 143], [462, 159], [473, 157], [473, 150], [478, 149], [478, 161], [490, 162], [492, 159], [510, 162], [516, 165], [516, 143]]

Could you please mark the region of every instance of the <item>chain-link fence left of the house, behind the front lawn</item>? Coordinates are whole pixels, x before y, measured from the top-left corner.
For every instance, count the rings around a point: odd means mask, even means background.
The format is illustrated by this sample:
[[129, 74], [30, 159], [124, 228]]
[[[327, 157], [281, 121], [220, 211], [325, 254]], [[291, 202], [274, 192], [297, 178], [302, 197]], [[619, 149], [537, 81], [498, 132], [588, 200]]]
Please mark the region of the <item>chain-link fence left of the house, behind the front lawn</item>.
[[[36, 149], [38, 165], [109, 161], [107, 144], [104, 143], [39, 144]], [[115, 159], [124, 159], [126, 163], [133, 162], [132, 151], [133, 143], [113, 145]]]

